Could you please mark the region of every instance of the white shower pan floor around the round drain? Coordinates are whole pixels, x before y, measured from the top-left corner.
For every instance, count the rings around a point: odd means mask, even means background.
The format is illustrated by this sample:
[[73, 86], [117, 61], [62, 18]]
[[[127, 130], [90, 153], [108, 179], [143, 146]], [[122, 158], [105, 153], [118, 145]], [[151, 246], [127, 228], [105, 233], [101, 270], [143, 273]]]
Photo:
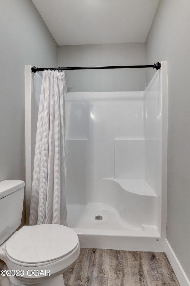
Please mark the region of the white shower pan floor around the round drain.
[[[95, 220], [95, 216], [101, 215], [102, 220]], [[153, 236], [158, 237], [156, 226], [133, 226], [124, 221], [114, 208], [102, 203], [88, 203], [88, 205], [68, 205], [67, 217], [69, 227], [80, 232], [79, 229], [85, 229], [85, 233], [102, 233], [102, 234], [125, 234], [126, 231], [134, 231], [140, 236], [144, 236], [145, 232], [151, 232]], [[87, 231], [88, 230], [88, 231]], [[93, 231], [94, 230], [94, 231]], [[97, 231], [96, 231], [97, 230]], [[118, 232], [119, 231], [119, 232]], [[139, 233], [140, 232], [140, 233]], [[152, 236], [152, 235], [151, 235]]]

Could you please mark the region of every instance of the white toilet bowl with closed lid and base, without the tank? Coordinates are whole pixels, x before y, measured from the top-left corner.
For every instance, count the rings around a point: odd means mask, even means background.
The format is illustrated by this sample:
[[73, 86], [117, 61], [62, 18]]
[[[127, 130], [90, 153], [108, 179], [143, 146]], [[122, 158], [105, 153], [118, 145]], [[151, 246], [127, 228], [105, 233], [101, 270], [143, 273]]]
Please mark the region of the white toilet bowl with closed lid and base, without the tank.
[[[10, 184], [12, 180], [7, 181]], [[0, 182], [0, 204], [3, 198], [12, 195], [12, 192], [9, 192], [1, 198], [2, 183]], [[14, 189], [13, 193], [16, 192]], [[0, 226], [1, 242], [2, 235], [6, 237], [5, 230], [2, 231]], [[7, 231], [10, 234], [9, 227]], [[5, 271], [9, 278], [7, 285], [4, 282], [4, 286], [64, 286], [62, 274], [75, 262], [79, 254], [79, 239], [72, 229], [57, 224], [23, 226], [0, 245], [0, 259], [7, 265], [8, 270]]]

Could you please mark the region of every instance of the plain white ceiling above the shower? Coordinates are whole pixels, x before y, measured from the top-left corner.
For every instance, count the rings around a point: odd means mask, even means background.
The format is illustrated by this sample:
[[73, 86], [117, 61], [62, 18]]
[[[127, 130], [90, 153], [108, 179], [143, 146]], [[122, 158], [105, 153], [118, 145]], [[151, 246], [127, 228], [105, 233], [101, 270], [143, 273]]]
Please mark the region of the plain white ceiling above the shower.
[[145, 42], [159, 0], [32, 0], [59, 46]]

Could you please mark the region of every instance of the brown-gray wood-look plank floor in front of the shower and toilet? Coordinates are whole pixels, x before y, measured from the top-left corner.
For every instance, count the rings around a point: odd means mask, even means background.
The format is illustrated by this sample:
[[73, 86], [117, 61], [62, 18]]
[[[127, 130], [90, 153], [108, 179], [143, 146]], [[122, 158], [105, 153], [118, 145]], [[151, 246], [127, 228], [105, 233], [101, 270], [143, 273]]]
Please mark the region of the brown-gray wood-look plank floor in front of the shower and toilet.
[[81, 248], [65, 286], [180, 286], [163, 252]]

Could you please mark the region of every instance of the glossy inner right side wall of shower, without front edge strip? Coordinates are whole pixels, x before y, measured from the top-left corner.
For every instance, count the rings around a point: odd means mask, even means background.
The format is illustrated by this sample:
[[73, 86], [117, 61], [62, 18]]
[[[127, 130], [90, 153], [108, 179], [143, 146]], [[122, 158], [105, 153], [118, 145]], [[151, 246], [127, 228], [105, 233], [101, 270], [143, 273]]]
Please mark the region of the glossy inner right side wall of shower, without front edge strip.
[[145, 179], [153, 191], [161, 193], [162, 114], [159, 77], [155, 76], [145, 89]]

